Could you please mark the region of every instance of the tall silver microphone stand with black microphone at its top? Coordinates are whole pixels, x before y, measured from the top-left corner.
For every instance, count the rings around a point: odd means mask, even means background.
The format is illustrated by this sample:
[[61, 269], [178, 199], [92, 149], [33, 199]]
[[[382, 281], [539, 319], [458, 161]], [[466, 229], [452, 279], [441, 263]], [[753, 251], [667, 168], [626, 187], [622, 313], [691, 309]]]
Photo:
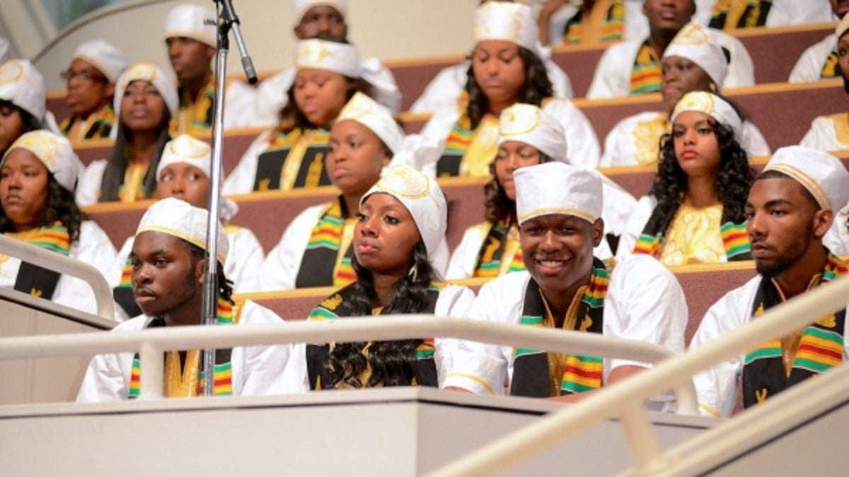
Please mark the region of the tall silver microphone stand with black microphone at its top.
[[[253, 62], [245, 48], [245, 40], [239, 30], [239, 17], [233, 11], [231, 0], [215, 0], [218, 7], [217, 25], [217, 48], [216, 48], [216, 87], [214, 119], [212, 121], [212, 157], [210, 168], [210, 200], [209, 200], [209, 222], [206, 224], [206, 272], [203, 289], [203, 323], [214, 326], [218, 323], [218, 230], [221, 227], [219, 216], [221, 215], [221, 174], [222, 174], [222, 151], [224, 144], [224, 87], [227, 80], [227, 53], [230, 47], [228, 39], [230, 30], [236, 37], [236, 45], [242, 58], [242, 66], [245, 68], [245, 76], [250, 84], [256, 83], [256, 71]], [[204, 351], [204, 396], [212, 396], [215, 389], [215, 355], [214, 348], [206, 348]]]

